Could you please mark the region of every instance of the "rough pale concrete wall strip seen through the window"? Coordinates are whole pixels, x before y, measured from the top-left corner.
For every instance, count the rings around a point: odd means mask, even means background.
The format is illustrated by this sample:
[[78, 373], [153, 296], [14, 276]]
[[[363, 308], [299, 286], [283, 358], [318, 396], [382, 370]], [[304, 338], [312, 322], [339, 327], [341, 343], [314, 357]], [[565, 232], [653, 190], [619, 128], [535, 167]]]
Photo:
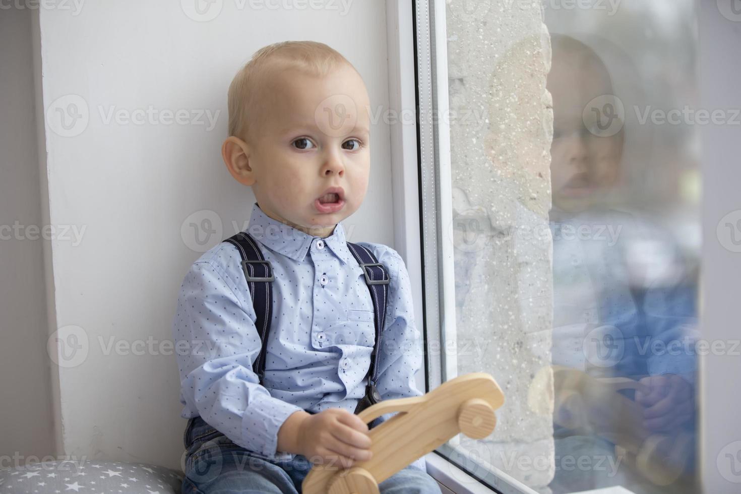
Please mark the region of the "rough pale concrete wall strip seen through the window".
[[456, 337], [481, 350], [458, 373], [491, 373], [506, 398], [494, 434], [459, 447], [548, 492], [553, 385], [533, 383], [551, 364], [550, 39], [537, 2], [448, 1], [447, 27]]

